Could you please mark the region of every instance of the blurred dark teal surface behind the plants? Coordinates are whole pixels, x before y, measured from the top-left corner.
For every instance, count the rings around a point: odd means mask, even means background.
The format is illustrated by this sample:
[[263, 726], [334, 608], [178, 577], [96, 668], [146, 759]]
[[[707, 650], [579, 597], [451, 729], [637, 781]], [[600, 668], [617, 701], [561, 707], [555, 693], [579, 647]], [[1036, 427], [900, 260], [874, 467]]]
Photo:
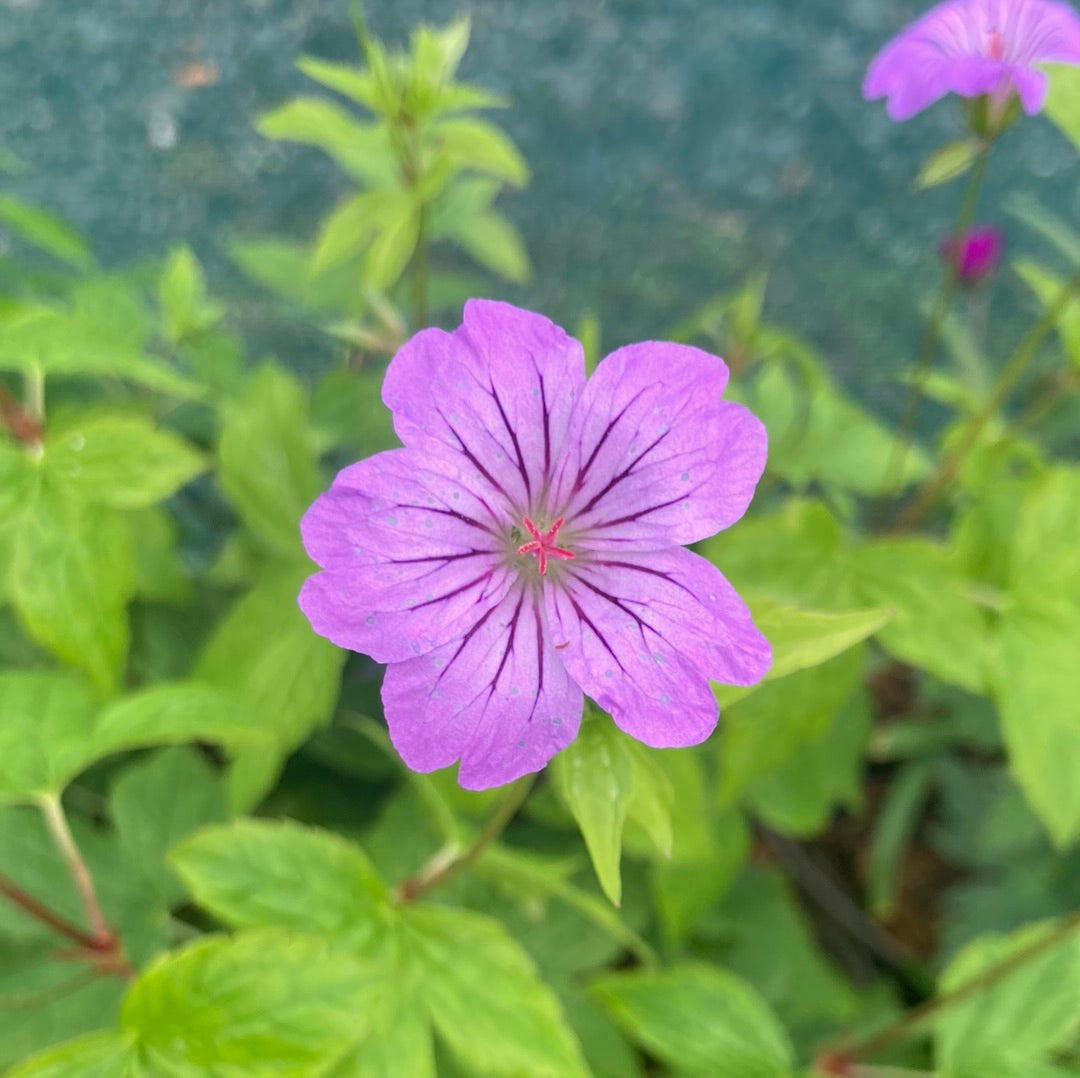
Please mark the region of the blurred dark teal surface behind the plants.
[[[913, 196], [922, 158], [960, 131], [955, 102], [906, 124], [860, 96], [866, 63], [922, 10], [907, 0], [370, 0], [373, 28], [403, 43], [420, 19], [469, 11], [463, 76], [508, 95], [499, 113], [534, 170], [504, 198], [536, 278], [498, 295], [572, 326], [599, 316], [604, 343], [663, 335], [751, 270], [770, 271], [769, 314], [807, 335], [845, 381], [893, 409], [939, 239], [960, 187]], [[301, 53], [353, 59], [347, 8], [314, 0], [0, 0], [2, 181], [86, 231], [107, 266], [187, 241], [245, 323], [274, 300], [230, 266], [231, 238], [311, 234], [343, 192], [318, 151], [270, 144], [258, 113], [314, 91]], [[218, 81], [183, 89], [208, 62]], [[1076, 154], [1044, 119], [1010, 132], [982, 219], [1012, 253], [1040, 250], [1003, 213], [1022, 191], [1076, 219]], [[1004, 287], [997, 295], [1015, 293]], [[1026, 299], [990, 320], [1002, 354]], [[259, 340], [288, 362], [320, 343]], [[1000, 346], [1000, 347], [999, 347]]]

